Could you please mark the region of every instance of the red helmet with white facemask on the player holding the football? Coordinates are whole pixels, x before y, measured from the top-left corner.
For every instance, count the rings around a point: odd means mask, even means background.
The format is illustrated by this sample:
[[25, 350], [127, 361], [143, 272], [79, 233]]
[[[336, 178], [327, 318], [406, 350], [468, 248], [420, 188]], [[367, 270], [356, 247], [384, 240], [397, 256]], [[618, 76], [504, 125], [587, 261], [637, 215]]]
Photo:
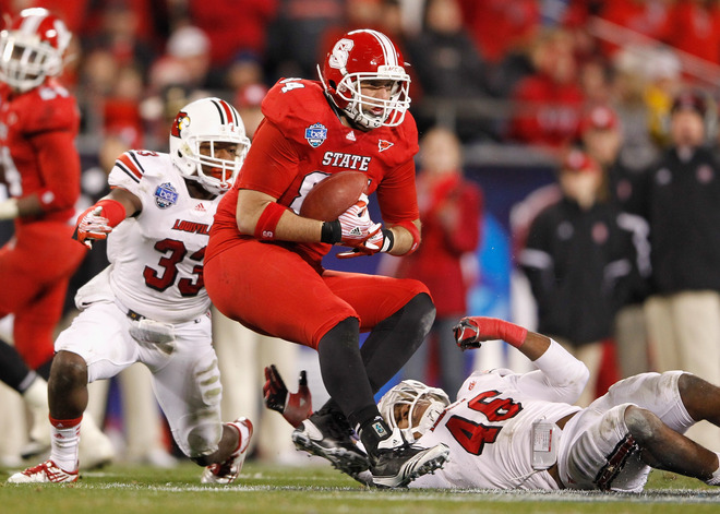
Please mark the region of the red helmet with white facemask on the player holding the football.
[[[410, 76], [393, 41], [377, 31], [345, 34], [327, 53], [320, 80], [335, 105], [365, 129], [397, 127], [410, 107]], [[363, 95], [361, 82], [392, 81], [389, 98]]]

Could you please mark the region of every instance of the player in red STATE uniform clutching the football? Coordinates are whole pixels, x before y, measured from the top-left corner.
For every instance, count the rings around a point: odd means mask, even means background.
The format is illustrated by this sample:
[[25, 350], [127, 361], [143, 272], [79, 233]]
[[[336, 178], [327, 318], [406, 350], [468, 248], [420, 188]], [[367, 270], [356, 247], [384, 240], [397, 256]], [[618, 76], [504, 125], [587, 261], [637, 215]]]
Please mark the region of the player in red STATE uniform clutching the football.
[[[317, 350], [332, 399], [296, 429], [296, 445], [351, 476], [369, 468], [380, 486], [405, 486], [442, 466], [446, 447], [398, 442], [373, 393], [422, 343], [432, 299], [420, 282], [321, 261], [331, 244], [351, 247], [345, 256], [404, 255], [420, 242], [410, 79], [393, 41], [369, 29], [340, 37], [319, 72], [320, 81], [280, 80], [265, 97], [265, 118], [215, 217], [205, 285], [228, 318]], [[364, 195], [337, 220], [298, 215], [314, 183], [344, 170], [367, 174], [385, 228], [370, 219]], [[361, 332], [370, 332], [362, 348]]]

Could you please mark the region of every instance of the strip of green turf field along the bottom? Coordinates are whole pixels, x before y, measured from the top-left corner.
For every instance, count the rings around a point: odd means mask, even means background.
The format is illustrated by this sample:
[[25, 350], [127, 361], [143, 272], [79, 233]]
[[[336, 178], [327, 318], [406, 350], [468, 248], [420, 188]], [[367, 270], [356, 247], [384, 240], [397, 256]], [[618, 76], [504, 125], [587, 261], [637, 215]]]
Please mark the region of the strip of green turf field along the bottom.
[[[310, 463], [310, 459], [309, 459]], [[16, 486], [0, 469], [1, 514], [203, 513], [720, 513], [720, 489], [655, 471], [646, 493], [374, 490], [329, 466], [247, 463], [232, 486], [201, 486], [200, 468], [109, 466], [74, 485]]]

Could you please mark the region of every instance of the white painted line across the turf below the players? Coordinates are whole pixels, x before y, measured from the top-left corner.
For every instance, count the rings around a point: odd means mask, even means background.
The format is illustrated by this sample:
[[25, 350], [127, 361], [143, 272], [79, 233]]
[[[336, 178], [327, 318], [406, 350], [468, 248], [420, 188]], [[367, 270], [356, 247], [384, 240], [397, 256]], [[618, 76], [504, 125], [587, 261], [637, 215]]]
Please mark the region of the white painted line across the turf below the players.
[[[320, 480], [319, 480], [320, 481]], [[407, 501], [408, 495], [422, 498], [423, 500], [436, 500], [456, 503], [476, 502], [580, 502], [580, 503], [720, 503], [720, 491], [693, 490], [693, 489], [655, 489], [646, 490], [639, 494], [634, 493], [607, 493], [600, 491], [497, 491], [492, 489], [465, 489], [465, 490], [432, 490], [432, 489], [403, 489], [403, 490], [375, 490], [357, 489], [355, 487], [308, 487], [308, 486], [143, 486], [141, 483], [75, 483], [82, 489], [129, 489], [163, 492], [205, 492], [205, 493], [253, 493], [267, 491], [304, 491], [311, 497], [325, 498], [328, 494], [343, 493], [345, 499], [362, 499], [364, 501], [377, 500]]]

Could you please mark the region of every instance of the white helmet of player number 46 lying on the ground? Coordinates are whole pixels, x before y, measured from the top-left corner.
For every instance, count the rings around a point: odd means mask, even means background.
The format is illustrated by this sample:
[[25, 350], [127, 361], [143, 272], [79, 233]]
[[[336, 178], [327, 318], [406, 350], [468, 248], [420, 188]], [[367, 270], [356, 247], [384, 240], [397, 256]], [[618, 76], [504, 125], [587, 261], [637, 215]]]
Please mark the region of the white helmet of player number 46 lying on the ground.
[[[417, 425], [412, 426], [412, 421], [416, 418], [413, 416], [415, 409], [420, 403], [429, 403], [430, 405]], [[397, 428], [399, 421], [395, 406], [409, 405], [409, 427], [400, 429], [400, 431], [408, 441], [413, 441], [416, 434], [422, 435], [435, 425], [435, 421], [437, 421], [437, 418], [449, 403], [449, 397], [443, 390], [430, 387], [417, 380], [404, 380], [383, 395], [377, 404], [377, 409], [383, 415], [383, 418], [385, 418], [387, 425], [394, 430]]]

